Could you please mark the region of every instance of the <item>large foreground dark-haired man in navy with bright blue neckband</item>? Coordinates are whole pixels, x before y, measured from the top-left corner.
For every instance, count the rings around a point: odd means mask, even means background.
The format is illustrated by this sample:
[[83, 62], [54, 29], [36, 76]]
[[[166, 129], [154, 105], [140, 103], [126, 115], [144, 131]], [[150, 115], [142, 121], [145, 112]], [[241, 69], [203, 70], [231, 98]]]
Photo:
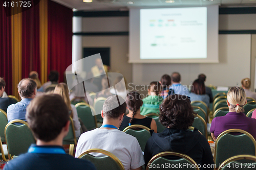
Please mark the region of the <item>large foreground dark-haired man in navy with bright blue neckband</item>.
[[84, 159], [65, 153], [62, 140], [69, 132], [69, 109], [57, 94], [46, 94], [34, 99], [27, 109], [26, 118], [35, 138], [28, 153], [9, 161], [4, 169], [88, 169], [95, 166]]

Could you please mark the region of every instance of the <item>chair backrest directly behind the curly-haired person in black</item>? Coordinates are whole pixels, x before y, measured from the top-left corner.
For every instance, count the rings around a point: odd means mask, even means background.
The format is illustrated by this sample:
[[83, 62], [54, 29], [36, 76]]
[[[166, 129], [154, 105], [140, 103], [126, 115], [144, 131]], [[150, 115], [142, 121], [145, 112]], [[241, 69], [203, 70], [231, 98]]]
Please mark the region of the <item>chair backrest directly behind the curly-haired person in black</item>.
[[[166, 159], [166, 158], [163, 158], [164, 156], [177, 156], [177, 157], [180, 157], [180, 159]], [[177, 165], [181, 165], [183, 163], [187, 165], [186, 168], [184, 168], [186, 170], [190, 170], [190, 169], [199, 170], [197, 163], [189, 156], [187, 156], [185, 154], [180, 154], [177, 152], [168, 152], [168, 151], [161, 152], [161, 153], [153, 156], [151, 158], [151, 160], [148, 162], [148, 164], [146, 166], [146, 170], [165, 169], [164, 167], [154, 168], [154, 167], [157, 167], [156, 165], [165, 165], [165, 164], [168, 164], [168, 167], [169, 167], [166, 169], [176, 169], [175, 167]], [[190, 166], [188, 166], [188, 164]]]

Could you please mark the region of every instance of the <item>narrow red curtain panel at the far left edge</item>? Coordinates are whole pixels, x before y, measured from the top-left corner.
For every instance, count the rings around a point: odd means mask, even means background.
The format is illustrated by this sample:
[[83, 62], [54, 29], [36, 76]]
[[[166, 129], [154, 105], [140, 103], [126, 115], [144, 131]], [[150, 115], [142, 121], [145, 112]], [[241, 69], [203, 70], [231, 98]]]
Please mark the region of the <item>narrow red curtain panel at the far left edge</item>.
[[[1, 3], [0, 3], [1, 4]], [[0, 77], [5, 79], [5, 91], [12, 95], [12, 27], [11, 16], [7, 17], [0, 6]]]

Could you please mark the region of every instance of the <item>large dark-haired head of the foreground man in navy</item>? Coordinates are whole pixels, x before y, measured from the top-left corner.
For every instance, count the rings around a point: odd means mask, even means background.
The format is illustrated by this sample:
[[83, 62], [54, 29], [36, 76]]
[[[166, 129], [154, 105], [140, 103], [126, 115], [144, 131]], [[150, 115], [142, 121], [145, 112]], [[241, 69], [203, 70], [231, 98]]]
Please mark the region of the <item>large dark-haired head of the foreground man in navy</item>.
[[32, 100], [26, 119], [37, 139], [54, 140], [69, 120], [68, 107], [58, 94], [45, 94]]

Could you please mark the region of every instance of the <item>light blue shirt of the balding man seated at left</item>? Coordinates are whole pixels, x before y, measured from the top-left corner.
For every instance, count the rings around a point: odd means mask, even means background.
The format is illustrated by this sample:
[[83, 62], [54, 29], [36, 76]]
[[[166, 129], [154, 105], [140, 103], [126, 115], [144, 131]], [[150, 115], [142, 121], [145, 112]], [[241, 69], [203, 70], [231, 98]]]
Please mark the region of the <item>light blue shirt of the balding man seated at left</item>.
[[23, 99], [22, 101], [12, 104], [7, 108], [8, 123], [14, 119], [26, 121], [26, 110], [32, 99]]

